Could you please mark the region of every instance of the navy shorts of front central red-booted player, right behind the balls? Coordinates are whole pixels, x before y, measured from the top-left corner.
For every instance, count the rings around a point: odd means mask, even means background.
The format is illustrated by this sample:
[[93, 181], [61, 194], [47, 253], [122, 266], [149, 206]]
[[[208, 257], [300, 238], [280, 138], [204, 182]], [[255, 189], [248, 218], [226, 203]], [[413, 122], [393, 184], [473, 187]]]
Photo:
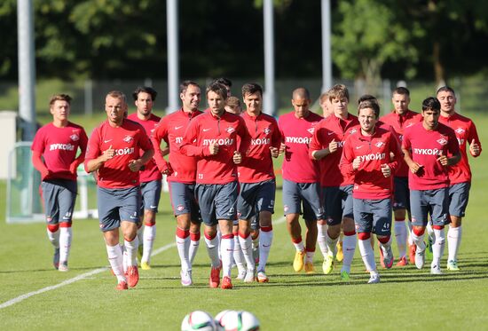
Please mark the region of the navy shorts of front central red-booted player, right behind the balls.
[[237, 182], [227, 184], [197, 184], [195, 192], [205, 225], [217, 225], [219, 219], [237, 218]]

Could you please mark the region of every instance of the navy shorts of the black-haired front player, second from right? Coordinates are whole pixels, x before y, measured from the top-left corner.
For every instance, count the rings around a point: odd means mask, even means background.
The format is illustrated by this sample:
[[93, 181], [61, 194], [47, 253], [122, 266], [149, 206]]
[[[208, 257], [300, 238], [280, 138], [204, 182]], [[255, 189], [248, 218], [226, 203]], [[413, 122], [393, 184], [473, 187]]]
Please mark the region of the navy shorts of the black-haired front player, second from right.
[[412, 225], [427, 226], [430, 219], [432, 225], [447, 225], [449, 218], [449, 188], [434, 190], [410, 190], [410, 206], [412, 208]]

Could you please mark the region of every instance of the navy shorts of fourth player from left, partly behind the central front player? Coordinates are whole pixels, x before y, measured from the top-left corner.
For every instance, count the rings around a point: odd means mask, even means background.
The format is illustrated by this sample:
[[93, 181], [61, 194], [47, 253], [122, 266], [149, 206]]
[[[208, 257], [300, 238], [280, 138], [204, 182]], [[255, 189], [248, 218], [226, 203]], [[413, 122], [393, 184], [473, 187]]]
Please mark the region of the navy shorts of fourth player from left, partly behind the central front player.
[[200, 208], [195, 195], [195, 185], [178, 182], [168, 182], [171, 207], [175, 216], [191, 214], [191, 219], [201, 221]]

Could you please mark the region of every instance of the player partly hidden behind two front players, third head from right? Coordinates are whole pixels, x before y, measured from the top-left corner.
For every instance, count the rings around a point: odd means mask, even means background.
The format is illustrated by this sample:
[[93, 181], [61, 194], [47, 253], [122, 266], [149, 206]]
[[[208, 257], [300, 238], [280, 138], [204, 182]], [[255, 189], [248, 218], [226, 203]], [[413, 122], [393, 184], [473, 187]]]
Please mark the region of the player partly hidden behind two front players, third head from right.
[[[380, 121], [391, 125], [401, 143], [405, 129], [411, 127], [415, 123], [421, 122], [422, 116], [421, 114], [415, 113], [408, 108], [410, 105], [410, 91], [408, 91], [405, 87], [398, 87], [397, 89], [393, 90], [391, 102], [393, 103], [393, 110], [390, 114], [382, 116]], [[393, 193], [393, 216], [395, 217], [395, 223], [393, 228], [398, 248], [397, 266], [403, 266], [408, 264], [408, 260], [406, 258], [407, 231], [405, 227], [407, 211], [410, 217], [408, 166], [403, 159], [398, 164], [397, 171], [395, 171], [393, 183], [395, 187]], [[409, 229], [408, 232], [412, 231], [411, 219], [408, 220], [407, 226]], [[408, 240], [410, 247], [410, 263], [414, 263], [416, 245], [413, 245], [412, 238], [410, 236], [408, 236]]]

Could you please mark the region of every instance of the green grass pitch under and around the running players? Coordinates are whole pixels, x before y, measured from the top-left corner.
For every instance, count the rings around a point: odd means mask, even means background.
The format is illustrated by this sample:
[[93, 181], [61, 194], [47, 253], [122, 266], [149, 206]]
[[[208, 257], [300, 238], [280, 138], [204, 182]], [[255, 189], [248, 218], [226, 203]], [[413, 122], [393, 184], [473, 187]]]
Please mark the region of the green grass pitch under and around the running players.
[[[488, 127], [488, 117], [473, 118], [482, 142], [488, 142], [488, 132], [483, 130]], [[263, 330], [484, 329], [488, 324], [488, 217], [484, 195], [488, 155], [484, 152], [470, 162], [474, 180], [464, 219], [460, 272], [431, 276], [428, 268], [418, 271], [410, 265], [380, 270], [382, 282], [366, 285], [368, 274], [357, 249], [350, 283], [338, 280], [340, 267], [330, 276], [296, 274], [291, 266], [295, 248], [281, 223], [274, 226], [267, 269], [269, 284], [234, 281], [232, 290], [208, 288], [209, 257], [202, 242], [193, 268], [196, 284], [192, 288], [179, 284], [179, 260], [173, 247], [153, 257], [153, 269], [140, 272], [137, 288], [117, 292], [114, 277], [108, 271], [101, 272], [0, 309], [0, 328], [177, 330], [189, 311], [205, 310], [216, 315], [224, 309], [243, 309], [256, 314]], [[0, 182], [0, 215], [4, 215], [4, 191], [5, 184]], [[281, 216], [280, 194], [276, 219]], [[163, 194], [160, 209], [155, 248], [174, 241], [175, 222], [167, 193]], [[0, 304], [107, 264], [98, 222], [93, 219], [75, 221], [67, 273], [51, 267], [52, 248], [43, 224], [0, 223], [0, 232]], [[319, 272], [319, 252], [315, 260]], [[232, 274], [235, 276], [235, 270]]]

